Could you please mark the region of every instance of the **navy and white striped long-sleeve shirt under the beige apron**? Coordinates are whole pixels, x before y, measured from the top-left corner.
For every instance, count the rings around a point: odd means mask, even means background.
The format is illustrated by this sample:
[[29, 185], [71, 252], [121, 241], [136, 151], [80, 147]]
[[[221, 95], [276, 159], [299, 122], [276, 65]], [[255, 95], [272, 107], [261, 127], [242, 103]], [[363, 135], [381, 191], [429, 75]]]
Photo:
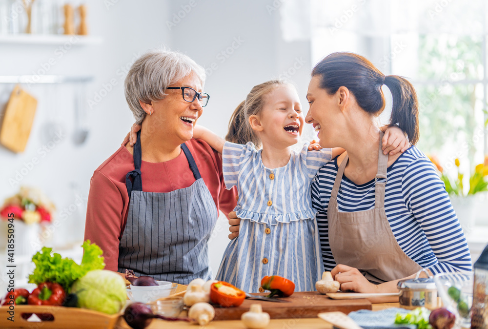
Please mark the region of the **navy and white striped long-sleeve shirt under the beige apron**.
[[[336, 266], [328, 241], [327, 206], [337, 170], [336, 158], [319, 170], [312, 183], [312, 202], [319, 211], [317, 224], [326, 271]], [[374, 180], [357, 185], [344, 176], [337, 195], [339, 211], [373, 209], [374, 192]], [[444, 183], [415, 146], [388, 167], [385, 211], [398, 244], [417, 264], [434, 274], [471, 270], [468, 243]]]

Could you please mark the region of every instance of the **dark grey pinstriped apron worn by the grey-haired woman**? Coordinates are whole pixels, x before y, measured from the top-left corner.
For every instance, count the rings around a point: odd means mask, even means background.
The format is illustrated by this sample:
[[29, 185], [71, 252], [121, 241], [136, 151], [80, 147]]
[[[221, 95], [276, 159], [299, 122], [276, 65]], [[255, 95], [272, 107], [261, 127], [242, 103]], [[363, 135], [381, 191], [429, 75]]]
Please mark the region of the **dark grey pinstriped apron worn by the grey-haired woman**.
[[196, 179], [191, 186], [167, 193], [143, 192], [140, 141], [138, 133], [135, 170], [126, 176], [130, 202], [119, 245], [118, 271], [130, 269], [136, 276], [148, 275], [183, 285], [195, 278], [211, 279], [207, 242], [218, 211], [193, 156], [182, 144]]

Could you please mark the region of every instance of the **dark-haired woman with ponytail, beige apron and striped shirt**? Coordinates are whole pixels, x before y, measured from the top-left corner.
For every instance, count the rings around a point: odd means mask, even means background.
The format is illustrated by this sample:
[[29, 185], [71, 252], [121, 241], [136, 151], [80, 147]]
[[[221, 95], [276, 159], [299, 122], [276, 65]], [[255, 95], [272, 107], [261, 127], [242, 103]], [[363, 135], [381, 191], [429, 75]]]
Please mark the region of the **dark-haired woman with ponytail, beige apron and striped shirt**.
[[411, 144], [419, 138], [418, 102], [406, 79], [385, 76], [351, 53], [325, 57], [312, 71], [305, 118], [322, 147], [346, 152], [324, 165], [312, 184], [325, 270], [341, 290], [397, 291], [399, 279], [471, 270], [465, 235], [432, 163], [415, 146], [384, 155], [374, 118], [393, 97], [391, 123]]

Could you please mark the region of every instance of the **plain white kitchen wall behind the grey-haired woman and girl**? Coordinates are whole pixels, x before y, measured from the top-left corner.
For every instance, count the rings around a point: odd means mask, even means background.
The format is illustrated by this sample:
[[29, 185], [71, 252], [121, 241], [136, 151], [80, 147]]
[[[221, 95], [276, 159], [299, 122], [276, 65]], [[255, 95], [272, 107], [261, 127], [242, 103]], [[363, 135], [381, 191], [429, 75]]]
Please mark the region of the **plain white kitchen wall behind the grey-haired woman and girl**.
[[[0, 200], [17, 192], [21, 184], [39, 186], [60, 212], [70, 205], [73, 209], [77, 195], [84, 202], [76, 211], [63, 216], [67, 219], [61, 221], [54, 239], [45, 242], [47, 245], [81, 240], [85, 198], [93, 170], [120, 146], [133, 123], [123, 97], [123, 68], [146, 50], [164, 44], [188, 54], [207, 68], [205, 92], [211, 98], [199, 123], [220, 135], [225, 134], [232, 111], [252, 86], [280, 76], [285, 78], [284, 72], [296, 82], [304, 108], [308, 108], [305, 92], [311, 68], [309, 41], [283, 40], [281, 1], [85, 2], [89, 7], [90, 34], [101, 36], [101, 45], [74, 46], [62, 58], [55, 52], [59, 46], [0, 45], [2, 75], [32, 74], [54, 57], [56, 64], [46, 74], [92, 75], [95, 78], [88, 85], [85, 104], [90, 124], [86, 143], [76, 146], [72, 142], [72, 85], [24, 85], [39, 101], [27, 148], [24, 153], [13, 154], [0, 147], [0, 170], [4, 173], [0, 176]], [[108, 5], [110, 3], [112, 5]], [[178, 21], [175, 15], [183, 18]], [[110, 89], [107, 86], [112, 79], [117, 84], [105, 97], [95, 98], [96, 93], [100, 95], [103, 89]], [[0, 84], [0, 106], [4, 106], [12, 88], [13, 85]], [[66, 137], [42, 156], [44, 153], [39, 150], [49, 142], [42, 138], [43, 127], [53, 121], [53, 117], [61, 123]], [[24, 163], [31, 162], [33, 157], [39, 158], [40, 164], [22, 176], [19, 185], [9, 183], [9, 179], [16, 179], [17, 171], [30, 167]], [[214, 273], [229, 241], [227, 227], [221, 218], [215, 238], [210, 242]]]

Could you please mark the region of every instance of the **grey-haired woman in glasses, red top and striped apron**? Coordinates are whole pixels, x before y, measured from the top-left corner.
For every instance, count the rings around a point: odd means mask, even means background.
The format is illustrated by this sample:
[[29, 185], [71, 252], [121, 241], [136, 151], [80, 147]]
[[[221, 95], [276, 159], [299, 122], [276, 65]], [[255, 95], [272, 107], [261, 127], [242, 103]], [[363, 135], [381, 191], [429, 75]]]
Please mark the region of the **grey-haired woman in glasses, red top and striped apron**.
[[95, 170], [88, 196], [85, 239], [102, 248], [106, 269], [179, 284], [212, 277], [207, 242], [237, 193], [225, 189], [220, 155], [192, 139], [204, 81], [176, 52], [149, 52], [130, 68], [125, 98], [142, 129]]

